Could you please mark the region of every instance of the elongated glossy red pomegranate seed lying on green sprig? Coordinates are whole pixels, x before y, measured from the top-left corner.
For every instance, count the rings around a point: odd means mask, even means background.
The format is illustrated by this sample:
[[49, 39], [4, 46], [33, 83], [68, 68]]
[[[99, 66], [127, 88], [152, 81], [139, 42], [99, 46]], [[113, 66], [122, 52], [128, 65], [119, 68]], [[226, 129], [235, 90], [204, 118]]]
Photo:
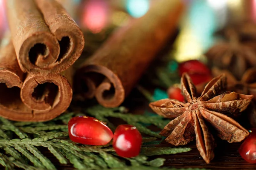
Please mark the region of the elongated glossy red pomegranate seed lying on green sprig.
[[77, 116], [68, 122], [69, 137], [73, 142], [90, 145], [108, 144], [113, 132], [98, 119], [88, 116]]

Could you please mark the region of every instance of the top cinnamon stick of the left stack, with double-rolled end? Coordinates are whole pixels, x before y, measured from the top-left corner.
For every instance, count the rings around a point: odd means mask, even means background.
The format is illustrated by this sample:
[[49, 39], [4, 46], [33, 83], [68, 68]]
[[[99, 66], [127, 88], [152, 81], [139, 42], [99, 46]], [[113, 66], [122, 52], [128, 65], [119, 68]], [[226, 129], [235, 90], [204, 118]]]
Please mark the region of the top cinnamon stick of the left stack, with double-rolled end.
[[81, 55], [84, 37], [55, 0], [7, 0], [17, 61], [23, 72], [55, 74]]

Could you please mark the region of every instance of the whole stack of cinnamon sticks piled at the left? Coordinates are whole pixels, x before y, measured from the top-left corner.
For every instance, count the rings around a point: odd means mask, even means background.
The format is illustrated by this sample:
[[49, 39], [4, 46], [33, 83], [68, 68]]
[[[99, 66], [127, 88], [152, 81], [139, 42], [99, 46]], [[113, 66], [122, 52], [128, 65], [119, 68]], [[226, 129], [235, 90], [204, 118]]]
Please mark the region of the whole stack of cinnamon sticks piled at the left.
[[72, 100], [72, 69], [67, 68], [83, 50], [81, 30], [55, 0], [6, 1], [6, 13], [10, 35], [1, 46], [0, 115], [51, 120]]

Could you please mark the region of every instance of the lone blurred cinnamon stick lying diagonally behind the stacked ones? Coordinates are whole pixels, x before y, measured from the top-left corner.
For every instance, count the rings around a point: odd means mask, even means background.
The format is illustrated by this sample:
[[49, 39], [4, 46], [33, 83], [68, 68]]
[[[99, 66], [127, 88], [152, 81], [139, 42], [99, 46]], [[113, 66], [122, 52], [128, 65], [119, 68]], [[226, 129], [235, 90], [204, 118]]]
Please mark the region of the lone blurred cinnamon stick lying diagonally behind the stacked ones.
[[181, 0], [157, 0], [141, 18], [119, 28], [76, 72], [76, 90], [105, 107], [119, 106], [174, 32]]

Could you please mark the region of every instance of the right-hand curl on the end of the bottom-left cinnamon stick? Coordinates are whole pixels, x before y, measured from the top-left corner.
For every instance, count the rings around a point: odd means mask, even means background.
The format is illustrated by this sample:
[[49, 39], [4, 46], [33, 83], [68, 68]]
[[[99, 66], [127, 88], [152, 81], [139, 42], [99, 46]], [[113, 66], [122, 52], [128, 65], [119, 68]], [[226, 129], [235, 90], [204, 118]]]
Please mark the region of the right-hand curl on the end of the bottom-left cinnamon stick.
[[45, 77], [29, 74], [23, 82], [20, 97], [33, 111], [33, 121], [46, 121], [67, 110], [72, 93], [70, 83], [60, 74]]

